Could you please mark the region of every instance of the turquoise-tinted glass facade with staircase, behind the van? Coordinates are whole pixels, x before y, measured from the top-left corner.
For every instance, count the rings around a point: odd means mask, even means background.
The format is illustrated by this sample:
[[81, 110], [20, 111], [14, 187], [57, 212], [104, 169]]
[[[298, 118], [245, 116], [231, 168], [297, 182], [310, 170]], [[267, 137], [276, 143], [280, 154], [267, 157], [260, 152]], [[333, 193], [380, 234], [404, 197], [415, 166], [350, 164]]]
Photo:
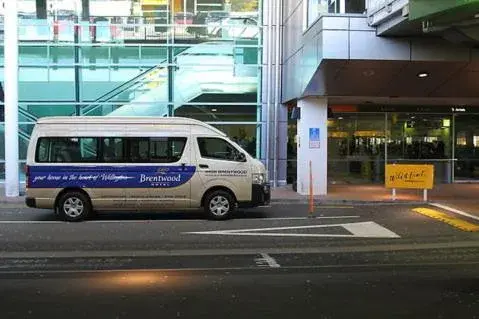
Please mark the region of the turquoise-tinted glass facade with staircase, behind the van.
[[[18, 10], [20, 165], [43, 116], [190, 117], [259, 157], [261, 1], [19, 0]], [[2, 84], [3, 52], [2, 41]], [[3, 178], [3, 99], [1, 113]]]

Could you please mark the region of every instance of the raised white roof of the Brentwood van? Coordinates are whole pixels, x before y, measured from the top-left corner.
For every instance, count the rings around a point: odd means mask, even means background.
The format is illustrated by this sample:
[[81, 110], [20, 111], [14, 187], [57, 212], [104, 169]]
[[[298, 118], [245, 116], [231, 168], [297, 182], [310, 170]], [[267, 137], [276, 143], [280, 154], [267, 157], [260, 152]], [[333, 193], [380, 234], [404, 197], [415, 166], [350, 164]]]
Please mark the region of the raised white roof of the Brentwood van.
[[163, 124], [198, 125], [219, 135], [226, 134], [204, 122], [185, 117], [148, 117], [148, 116], [49, 116], [38, 119], [37, 124]]

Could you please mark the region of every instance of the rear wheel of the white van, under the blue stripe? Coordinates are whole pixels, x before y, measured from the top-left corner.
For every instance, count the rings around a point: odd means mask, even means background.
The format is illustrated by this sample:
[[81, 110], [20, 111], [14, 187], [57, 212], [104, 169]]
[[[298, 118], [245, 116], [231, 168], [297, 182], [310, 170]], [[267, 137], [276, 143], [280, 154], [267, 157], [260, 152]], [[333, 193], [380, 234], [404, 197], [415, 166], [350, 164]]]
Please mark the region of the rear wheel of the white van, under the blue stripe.
[[58, 201], [58, 216], [67, 222], [79, 222], [92, 214], [92, 205], [88, 196], [81, 192], [67, 192]]

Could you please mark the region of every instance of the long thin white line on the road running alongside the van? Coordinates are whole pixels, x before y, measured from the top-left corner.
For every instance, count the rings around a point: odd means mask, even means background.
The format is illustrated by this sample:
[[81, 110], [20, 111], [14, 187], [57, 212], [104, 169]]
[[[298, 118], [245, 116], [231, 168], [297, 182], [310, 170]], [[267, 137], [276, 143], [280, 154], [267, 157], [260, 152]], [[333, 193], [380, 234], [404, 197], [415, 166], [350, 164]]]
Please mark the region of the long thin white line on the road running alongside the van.
[[[319, 216], [314, 217], [314, 219], [343, 219], [343, 218], [359, 218], [360, 216], [349, 215], [349, 216]], [[308, 217], [272, 217], [272, 218], [238, 218], [236, 220], [306, 220], [311, 219]], [[103, 224], [103, 223], [153, 223], [153, 222], [197, 222], [197, 221], [204, 221], [208, 222], [206, 219], [136, 219], [136, 220], [87, 220], [78, 225], [89, 223], [89, 224]], [[55, 220], [0, 220], [0, 224], [71, 224], [68, 222], [63, 221], [55, 221]]]

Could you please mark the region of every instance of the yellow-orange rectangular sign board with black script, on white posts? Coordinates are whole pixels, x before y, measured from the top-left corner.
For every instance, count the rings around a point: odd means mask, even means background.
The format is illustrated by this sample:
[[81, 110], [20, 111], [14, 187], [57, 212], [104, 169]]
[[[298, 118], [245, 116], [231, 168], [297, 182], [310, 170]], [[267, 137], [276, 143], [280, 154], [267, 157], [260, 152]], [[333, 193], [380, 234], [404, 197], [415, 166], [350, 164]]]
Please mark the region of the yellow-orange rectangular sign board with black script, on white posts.
[[386, 165], [386, 188], [432, 189], [434, 165]]

